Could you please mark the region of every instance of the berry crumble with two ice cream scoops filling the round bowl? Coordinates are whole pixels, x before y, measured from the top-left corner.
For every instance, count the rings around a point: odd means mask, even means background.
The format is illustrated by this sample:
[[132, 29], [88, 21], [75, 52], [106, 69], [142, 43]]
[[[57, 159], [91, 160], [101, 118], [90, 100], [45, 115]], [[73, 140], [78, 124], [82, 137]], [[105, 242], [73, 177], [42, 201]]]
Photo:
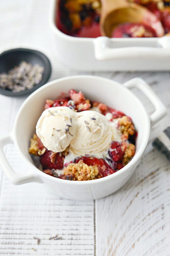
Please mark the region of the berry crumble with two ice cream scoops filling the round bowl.
[[130, 117], [70, 90], [69, 97], [45, 102], [29, 153], [44, 173], [66, 180], [114, 174], [135, 154], [137, 132]]

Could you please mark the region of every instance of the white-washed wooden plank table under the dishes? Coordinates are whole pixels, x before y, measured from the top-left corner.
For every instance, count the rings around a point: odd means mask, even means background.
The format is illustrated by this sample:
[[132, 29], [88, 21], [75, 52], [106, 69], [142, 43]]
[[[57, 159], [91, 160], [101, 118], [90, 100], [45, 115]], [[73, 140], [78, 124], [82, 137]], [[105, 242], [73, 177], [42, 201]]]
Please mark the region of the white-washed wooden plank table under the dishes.
[[[26, 45], [45, 52], [53, 67], [51, 80], [79, 74], [55, 58], [48, 27], [48, 0], [1, 0], [0, 6], [1, 51]], [[62, 199], [50, 194], [42, 184], [14, 186], [1, 170], [1, 255], [170, 255], [170, 163], [151, 146], [152, 139], [170, 122], [170, 73], [92, 74], [122, 83], [142, 77], [165, 103], [168, 116], [153, 127], [150, 143], [132, 179], [106, 198], [88, 202]], [[152, 112], [145, 96], [134, 93]], [[2, 136], [12, 130], [24, 99], [0, 95]], [[17, 172], [27, 172], [15, 147], [8, 146], [5, 151]], [[48, 240], [55, 234], [62, 239]], [[39, 245], [33, 236], [41, 239]]]

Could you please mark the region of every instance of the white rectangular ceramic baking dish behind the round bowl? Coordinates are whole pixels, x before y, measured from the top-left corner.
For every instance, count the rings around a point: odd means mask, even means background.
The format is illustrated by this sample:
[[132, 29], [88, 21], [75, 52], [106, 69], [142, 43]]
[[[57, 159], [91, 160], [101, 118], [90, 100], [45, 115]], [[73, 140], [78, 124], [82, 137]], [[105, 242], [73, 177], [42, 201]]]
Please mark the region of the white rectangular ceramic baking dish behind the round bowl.
[[57, 57], [69, 67], [85, 71], [169, 70], [170, 36], [162, 38], [77, 38], [55, 24], [58, 0], [51, 0], [50, 28]]

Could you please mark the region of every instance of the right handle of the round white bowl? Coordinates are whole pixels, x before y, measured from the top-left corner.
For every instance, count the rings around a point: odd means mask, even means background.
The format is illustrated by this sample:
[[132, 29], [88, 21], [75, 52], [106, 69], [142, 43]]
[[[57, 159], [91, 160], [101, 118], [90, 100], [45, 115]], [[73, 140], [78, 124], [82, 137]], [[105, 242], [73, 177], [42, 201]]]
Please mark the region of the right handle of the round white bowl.
[[158, 98], [155, 92], [143, 79], [139, 77], [133, 78], [125, 82], [123, 86], [129, 89], [138, 88], [152, 102], [153, 106], [155, 107], [155, 111], [150, 115], [151, 126], [156, 124], [159, 120], [161, 120], [167, 114], [167, 109], [165, 105], [162, 103], [162, 101]]

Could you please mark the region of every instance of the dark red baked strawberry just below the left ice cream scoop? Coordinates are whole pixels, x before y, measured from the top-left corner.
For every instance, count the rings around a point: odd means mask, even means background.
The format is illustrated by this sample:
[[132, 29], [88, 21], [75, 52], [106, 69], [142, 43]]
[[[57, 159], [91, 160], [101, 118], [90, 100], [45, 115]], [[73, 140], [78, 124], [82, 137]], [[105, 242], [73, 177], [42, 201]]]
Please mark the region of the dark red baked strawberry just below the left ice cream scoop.
[[60, 153], [54, 153], [46, 149], [45, 153], [40, 157], [40, 163], [43, 169], [59, 169], [63, 168], [65, 156]]

